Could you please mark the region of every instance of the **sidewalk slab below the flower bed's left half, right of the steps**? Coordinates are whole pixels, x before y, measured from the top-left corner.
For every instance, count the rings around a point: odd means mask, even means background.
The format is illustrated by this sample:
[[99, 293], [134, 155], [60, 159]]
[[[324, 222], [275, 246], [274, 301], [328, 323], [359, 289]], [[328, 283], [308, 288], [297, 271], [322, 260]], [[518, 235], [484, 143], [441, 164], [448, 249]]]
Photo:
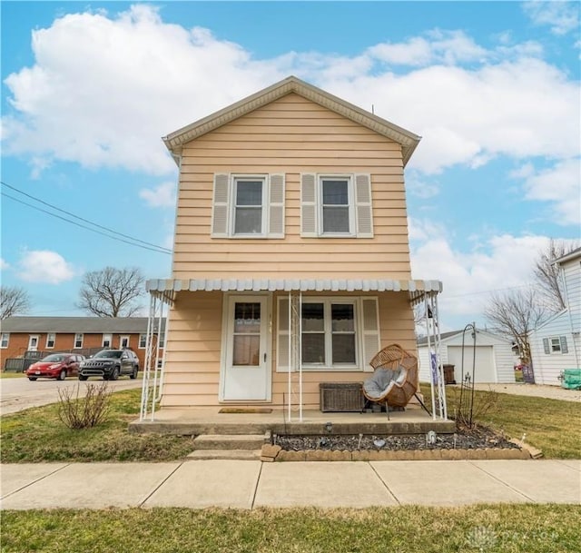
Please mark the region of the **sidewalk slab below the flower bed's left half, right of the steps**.
[[364, 508], [398, 502], [369, 463], [264, 463], [254, 507]]

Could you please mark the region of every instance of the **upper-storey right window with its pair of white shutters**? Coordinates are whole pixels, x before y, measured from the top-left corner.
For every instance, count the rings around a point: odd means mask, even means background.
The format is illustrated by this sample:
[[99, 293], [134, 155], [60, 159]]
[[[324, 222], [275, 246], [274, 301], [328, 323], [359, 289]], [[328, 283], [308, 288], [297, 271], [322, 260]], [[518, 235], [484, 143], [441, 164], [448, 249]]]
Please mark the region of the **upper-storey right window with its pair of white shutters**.
[[370, 175], [302, 173], [300, 235], [372, 238]]

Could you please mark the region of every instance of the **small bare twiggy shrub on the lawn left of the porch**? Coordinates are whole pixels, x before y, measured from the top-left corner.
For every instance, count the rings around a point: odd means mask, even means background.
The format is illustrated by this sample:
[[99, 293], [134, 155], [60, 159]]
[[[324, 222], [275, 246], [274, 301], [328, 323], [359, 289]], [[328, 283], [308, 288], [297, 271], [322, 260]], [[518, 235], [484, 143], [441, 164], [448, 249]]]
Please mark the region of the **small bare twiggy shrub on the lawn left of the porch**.
[[93, 428], [105, 420], [109, 411], [112, 390], [107, 382], [87, 384], [87, 391], [79, 397], [80, 384], [75, 388], [58, 390], [58, 417], [71, 430]]

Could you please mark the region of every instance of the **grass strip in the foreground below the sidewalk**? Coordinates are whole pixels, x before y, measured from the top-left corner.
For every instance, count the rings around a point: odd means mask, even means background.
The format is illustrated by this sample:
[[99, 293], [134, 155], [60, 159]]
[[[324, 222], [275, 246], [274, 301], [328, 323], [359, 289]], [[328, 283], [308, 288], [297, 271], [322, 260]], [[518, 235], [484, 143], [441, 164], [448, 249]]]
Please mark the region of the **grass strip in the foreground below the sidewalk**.
[[4, 511], [2, 553], [574, 553], [581, 509], [106, 509]]

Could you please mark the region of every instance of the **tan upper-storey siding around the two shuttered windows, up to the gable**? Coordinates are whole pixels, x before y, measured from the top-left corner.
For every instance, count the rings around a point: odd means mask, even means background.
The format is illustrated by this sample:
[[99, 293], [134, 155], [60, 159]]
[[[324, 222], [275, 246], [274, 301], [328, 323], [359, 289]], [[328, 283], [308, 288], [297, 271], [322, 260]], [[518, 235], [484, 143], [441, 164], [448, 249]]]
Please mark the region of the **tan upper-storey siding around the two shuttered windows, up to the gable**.
[[[283, 173], [284, 238], [212, 238], [215, 173]], [[373, 238], [300, 237], [301, 173], [370, 174]], [[399, 144], [297, 94], [186, 144], [172, 277], [229, 275], [409, 279]]]

